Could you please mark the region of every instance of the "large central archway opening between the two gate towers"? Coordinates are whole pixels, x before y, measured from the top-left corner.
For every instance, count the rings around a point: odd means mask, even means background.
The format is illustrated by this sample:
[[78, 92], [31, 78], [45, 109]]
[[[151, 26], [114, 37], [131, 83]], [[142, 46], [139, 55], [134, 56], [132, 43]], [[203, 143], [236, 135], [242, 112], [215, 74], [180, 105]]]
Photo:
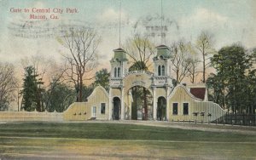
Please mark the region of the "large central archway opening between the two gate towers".
[[129, 89], [129, 104], [131, 104], [131, 119], [153, 119], [153, 96], [150, 91], [142, 86]]

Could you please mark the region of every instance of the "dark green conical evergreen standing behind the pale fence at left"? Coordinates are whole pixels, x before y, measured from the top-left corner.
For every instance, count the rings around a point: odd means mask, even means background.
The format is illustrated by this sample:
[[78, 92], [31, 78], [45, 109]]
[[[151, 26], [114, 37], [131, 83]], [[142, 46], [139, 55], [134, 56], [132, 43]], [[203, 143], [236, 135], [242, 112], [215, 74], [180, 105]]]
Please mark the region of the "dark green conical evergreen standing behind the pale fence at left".
[[44, 89], [41, 85], [44, 84], [41, 78], [38, 78], [38, 74], [35, 72], [35, 68], [27, 66], [25, 68], [25, 78], [23, 79], [23, 89], [21, 94], [22, 108], [25, 111], [44, 111], [43, 92]]

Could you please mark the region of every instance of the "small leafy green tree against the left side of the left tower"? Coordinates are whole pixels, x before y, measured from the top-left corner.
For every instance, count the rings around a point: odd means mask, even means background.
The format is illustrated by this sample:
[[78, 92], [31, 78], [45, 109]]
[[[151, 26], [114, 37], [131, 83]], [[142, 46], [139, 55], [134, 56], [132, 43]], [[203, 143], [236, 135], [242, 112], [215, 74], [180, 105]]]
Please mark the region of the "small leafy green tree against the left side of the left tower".
[[96, 71], [96, 80], [92, 85], [96, 87], [97, 85], [101, 85], [107, 91], [109, 90], [109, 78], [110, 72], [106, 68], [103, 68], [100, 71]]

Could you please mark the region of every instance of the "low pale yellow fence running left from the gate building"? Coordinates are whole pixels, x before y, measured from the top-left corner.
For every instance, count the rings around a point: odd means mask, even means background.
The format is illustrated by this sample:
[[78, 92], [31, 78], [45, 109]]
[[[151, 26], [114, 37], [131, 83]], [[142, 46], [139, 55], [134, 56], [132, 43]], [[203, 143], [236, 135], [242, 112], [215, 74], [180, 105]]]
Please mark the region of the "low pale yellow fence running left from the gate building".
[[63, 121], [62, 113], [38, 111], [0, 111], [0, 122], [12, 121]]

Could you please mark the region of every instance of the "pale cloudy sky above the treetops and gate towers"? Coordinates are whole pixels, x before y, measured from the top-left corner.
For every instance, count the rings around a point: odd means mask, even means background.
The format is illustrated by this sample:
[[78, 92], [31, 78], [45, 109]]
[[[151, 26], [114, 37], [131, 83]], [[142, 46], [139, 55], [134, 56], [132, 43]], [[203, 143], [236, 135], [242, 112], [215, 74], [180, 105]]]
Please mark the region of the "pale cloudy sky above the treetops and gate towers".
[[[37, 14], [33, 8], [50, 9], [51, 13], [43, 14], [48, 20], [31, 20], [30, 14]], [[66, 13], [67, 8], [78, 13]], [[53, 13], [53, 9], [64, 12]], [[50, 14], [58, 19], [50, 19]], [[58, 31], [89, 26], [102, 37], [99, 60], [101, 67], [109, 68], [113, 49], [119, 48], [119, 15], [121, 45], [135, 31], [149, 32], [155, 45], [167, 46], [180, 39], [195, 43], [200, 32], [207, 31], [217, 50], [232, 43], [256, 47], [254, 0], [0, 0], [0, 60], [19, 64], [31, 55], [61, 60], [61, 53], [68, 50], [57, 42]], [[161, 23], [166, 26], [162, 39], [157, 30]]]

